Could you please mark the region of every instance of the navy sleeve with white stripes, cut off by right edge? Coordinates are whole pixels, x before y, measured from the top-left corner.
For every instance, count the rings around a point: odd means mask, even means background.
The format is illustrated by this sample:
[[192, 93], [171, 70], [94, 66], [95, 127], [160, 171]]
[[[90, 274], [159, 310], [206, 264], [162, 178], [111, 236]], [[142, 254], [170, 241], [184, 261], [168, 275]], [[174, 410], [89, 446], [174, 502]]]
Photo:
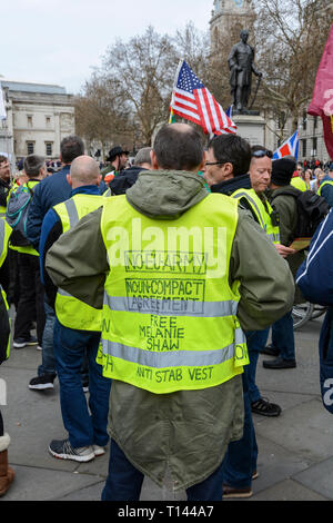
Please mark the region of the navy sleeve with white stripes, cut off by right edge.
[[333, 305], [333, 213], [315, 231], [307, 258], [297, 270], [296, 283], [309, 302]]

